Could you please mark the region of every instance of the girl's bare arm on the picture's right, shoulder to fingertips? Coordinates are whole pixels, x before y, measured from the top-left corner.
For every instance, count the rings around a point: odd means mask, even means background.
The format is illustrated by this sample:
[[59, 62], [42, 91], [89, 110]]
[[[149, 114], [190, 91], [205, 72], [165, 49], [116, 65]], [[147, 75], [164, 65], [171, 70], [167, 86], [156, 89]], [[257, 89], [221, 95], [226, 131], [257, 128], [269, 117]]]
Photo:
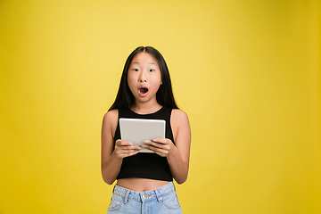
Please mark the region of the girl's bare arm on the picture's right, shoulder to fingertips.
[[146, 148], [166, 157], [172, 176], [178, 184], [183, 184], [188, 175], [191, 128], [184, 111], [173, 110], [170, 121], [175, 145], [169, 139], [154, 139], [146, 141]]

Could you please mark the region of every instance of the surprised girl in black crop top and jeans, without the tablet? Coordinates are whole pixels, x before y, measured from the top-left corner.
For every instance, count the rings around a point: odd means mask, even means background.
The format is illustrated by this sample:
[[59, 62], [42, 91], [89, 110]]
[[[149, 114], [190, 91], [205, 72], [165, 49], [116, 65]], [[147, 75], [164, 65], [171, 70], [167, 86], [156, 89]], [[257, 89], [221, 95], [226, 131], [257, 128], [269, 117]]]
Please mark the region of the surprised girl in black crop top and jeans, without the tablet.
[[[120, 139], [119, 118], [165, 119], [165, 139], [146, 139], [144, 148]], [[178, 110], [167, 64], [151, 46], [130, 53], [115, 102], [103, 117], [102, 175], [116, 179], [108, 213], [182, 213], [173, 177], [187, 178], [191, 131]]]

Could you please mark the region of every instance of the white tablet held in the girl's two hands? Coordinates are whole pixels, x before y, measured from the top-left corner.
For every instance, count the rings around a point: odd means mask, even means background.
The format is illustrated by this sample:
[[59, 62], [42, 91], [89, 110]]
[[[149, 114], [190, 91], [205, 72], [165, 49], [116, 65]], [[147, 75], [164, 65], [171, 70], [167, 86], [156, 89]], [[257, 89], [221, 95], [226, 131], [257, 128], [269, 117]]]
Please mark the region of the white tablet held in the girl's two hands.
[[[145, 140], [153, 138], [165, 139], [164, 119], [119, 119], [120, 137], [123, 141], [135, 145], [144, 145]], [[142, 147], [140, 152], [151, 152]]]

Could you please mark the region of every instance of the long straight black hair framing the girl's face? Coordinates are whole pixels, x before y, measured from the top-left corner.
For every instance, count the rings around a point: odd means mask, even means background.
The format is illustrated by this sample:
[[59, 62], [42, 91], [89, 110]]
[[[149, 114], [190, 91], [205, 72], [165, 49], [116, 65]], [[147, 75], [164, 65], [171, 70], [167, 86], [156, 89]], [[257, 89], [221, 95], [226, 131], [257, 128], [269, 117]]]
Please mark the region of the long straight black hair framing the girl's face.
[[162, 84], [156, 93], [157, 102], [160, 103], [162, 106], [169, 107], [172, 109], [178, 109], [177, 103], [175, 102], [173, 95], [173, 89], [171, 86], [169, 76], [169, 69], [161, 53], [152, 46], [139, 46], [132, 53], [130, 53], [127, 61], [125, 62], [124, 70], [120, 78], [119, 91], [117, 93], [115, 102], [112, 103], [111, 108], [108, 111], [111, 111], [113, 109], [129, 108], [135, 103], [135, 96], [132, 94], [128, 86], [128, 69], [134, 56], [137, 53], [141, 52], [152, 54], [152, 56], [156, 59], [156, 62], [161, 70]]

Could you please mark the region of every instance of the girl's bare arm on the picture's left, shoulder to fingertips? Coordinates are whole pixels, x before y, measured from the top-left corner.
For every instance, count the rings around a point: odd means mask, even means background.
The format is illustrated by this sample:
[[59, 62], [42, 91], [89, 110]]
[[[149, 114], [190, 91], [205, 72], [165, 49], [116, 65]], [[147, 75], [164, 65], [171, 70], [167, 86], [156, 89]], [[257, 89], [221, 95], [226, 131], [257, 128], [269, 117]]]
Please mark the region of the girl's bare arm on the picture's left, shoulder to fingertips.
[[108, 111], [103, 117], [102, 127], [102, 176], [103, 181], [111, 185], [119, 175], [122, 160], [134, 155], [140, 149], [130, 142], [117, 140], [113, 144], [113, 134], [118, 123], [118, 111]]

